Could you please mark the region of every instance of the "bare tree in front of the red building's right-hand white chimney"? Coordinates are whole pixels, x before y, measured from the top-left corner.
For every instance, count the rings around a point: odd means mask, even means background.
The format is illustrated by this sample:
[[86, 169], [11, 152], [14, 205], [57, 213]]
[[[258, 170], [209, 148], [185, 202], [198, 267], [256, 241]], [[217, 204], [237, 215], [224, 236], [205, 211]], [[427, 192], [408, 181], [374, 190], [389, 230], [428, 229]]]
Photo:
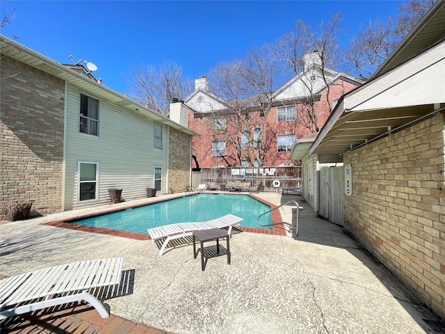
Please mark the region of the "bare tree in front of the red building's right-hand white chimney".
[[320, 129], [318, 113], [321, 112], [321, 89], [327, 90], [323, 96], [328, 112], [333, 109], [330, 98], [333, 72], [328, 67], [339, 67], [341, 20], [341, 13], [336, 13], [328, 22], [321, 22], [314, 29], [298, 20], [292, 31], [277, 40], [275, 45], [269, 46], [275, 60], [283, 63], [289, 73], [296, 75], [298, 85], [293, 94], [293, 102], [297, 104], [296, 119], [311, 132]]

